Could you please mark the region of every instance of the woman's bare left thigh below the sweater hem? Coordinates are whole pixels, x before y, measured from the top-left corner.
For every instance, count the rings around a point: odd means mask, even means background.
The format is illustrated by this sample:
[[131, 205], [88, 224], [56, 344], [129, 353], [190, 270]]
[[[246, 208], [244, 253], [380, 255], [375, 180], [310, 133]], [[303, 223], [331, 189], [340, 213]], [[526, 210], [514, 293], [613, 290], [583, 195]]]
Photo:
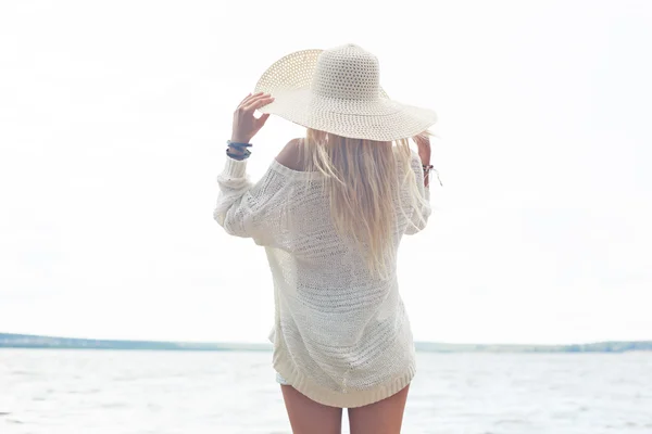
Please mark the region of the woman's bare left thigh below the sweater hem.
[[342, 409], [315, 403], [292, 386], [281, 385], [290, 425], [294, 434], [340, 434]]

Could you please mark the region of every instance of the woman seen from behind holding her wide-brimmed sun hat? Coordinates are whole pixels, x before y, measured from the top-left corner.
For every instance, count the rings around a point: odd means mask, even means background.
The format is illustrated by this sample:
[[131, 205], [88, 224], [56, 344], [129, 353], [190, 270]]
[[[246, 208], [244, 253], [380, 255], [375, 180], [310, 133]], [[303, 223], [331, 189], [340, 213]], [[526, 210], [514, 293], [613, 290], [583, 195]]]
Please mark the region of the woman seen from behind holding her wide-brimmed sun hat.
[[[377, 59], [353, 44], [289, 54], [255, 91], [234, 115], [214, 217], [265, 246], [273, 366], [292, 430], [339, 433], [349, 408], [352, 434], [399, 433], [415, 357], [397, 252], [430, 214], [424, 131], [437, 116], [391, 101]], [[271, 114], [308, 133], [250, 184], [250, 142]]]

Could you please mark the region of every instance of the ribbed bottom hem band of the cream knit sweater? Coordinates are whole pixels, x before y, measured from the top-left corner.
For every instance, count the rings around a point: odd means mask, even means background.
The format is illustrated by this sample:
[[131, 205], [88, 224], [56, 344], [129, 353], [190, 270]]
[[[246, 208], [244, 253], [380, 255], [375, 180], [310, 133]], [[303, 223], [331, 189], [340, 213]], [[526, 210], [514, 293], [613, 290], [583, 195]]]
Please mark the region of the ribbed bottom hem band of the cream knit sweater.
[[377, 403], [399, 393], [410, 384], [416, 373], [416, 366], [411, 361], [401, 374], [380, 385], [366, 391], [335, 392], [315, 384], [309, 376], [299, 372], [297, 367], [277, 349], [274, 354], [274, 369], [301, 394], [315, 403], [338, 408], [355, 408]]

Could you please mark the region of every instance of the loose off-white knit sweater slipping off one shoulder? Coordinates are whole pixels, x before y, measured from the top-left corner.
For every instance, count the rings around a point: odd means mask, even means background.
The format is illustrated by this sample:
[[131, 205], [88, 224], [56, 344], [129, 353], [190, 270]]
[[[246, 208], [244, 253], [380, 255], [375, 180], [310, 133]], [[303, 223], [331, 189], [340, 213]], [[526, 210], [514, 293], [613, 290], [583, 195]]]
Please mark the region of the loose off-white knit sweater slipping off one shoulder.
[[[411, 163], [428, 201], [414, 151]], [[303, 395], [333, 407], [360, 407], [402, 390], [414, 376], [415, 357], [396, 261], [389, 280], [371, 277], [358, 251], [335, 231], [321, 174], [273, 161], [252, 184], [246, 168], [246, 161], [226, 159], [214, 217], [228, 233], [265, 246], [274, 280], [269, 341], [276, 371]], [[408, 190], [401, 194], [406, 197]], [[429, 205], [422, 213], [427, 218]], [[397, 250], [404, 233], [423, 229], [411, 216], [412, 209], [397, 209]]]

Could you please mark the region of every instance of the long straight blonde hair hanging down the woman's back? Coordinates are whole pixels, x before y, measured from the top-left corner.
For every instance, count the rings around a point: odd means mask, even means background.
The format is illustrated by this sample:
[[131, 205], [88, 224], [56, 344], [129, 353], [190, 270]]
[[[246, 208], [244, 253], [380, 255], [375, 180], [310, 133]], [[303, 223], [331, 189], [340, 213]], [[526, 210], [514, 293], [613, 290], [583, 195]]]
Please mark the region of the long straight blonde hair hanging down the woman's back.
[[[403, 215], [412, 214], [423, 221], [423, 199], [411, 167], [408, 139], [397, 140], [394, 145], [309, 128], [302, 144], [304, 170], [325, 175], [323, 187], [337, 232], [353, 241], [373, 276], [388, 279], [396, 258], [396, 201]], [[405, 183], [410, 203], [402, 204]]]

